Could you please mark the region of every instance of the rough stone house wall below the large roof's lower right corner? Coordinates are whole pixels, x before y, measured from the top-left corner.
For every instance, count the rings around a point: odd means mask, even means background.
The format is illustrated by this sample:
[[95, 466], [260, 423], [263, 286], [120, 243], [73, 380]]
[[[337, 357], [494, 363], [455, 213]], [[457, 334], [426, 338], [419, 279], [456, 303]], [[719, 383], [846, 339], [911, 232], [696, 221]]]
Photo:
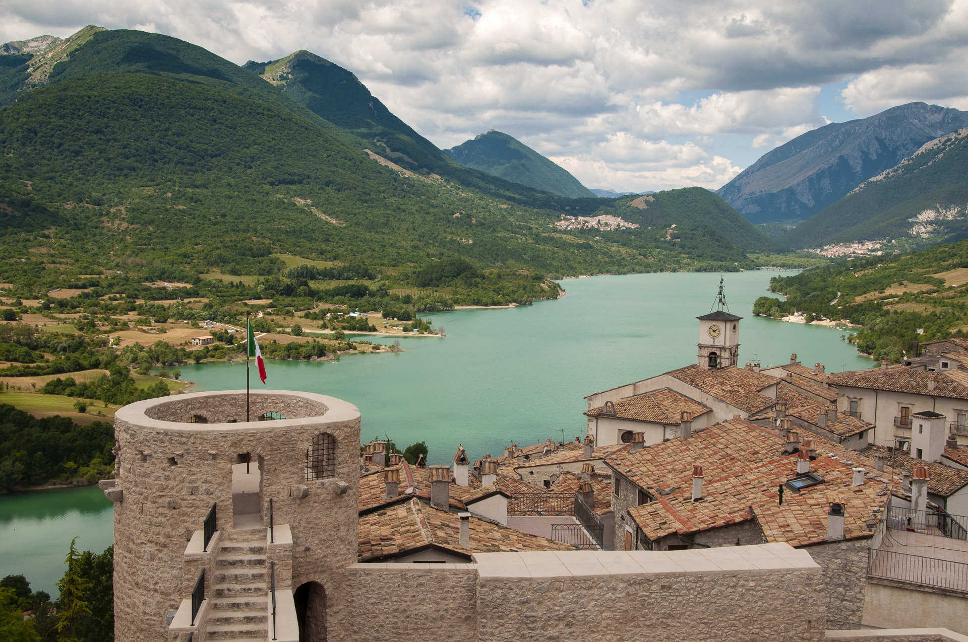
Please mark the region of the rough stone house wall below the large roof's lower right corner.
[[[860, 623], [867, 587], [867, 550], [870, 539], [829, 541], [806, 548], [824, 569], [827, 617]], [[840, 625], [831, 623], [831, 628]]]

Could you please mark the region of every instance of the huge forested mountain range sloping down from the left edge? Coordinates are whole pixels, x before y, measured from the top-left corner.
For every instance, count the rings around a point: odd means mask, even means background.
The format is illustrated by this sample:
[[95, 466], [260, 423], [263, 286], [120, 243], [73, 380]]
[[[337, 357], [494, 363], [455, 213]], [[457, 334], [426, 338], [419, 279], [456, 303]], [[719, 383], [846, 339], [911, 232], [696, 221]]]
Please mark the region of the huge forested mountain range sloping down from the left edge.
[[[705, 190], [702, 202], [659, 194], [644, 210], [627, 198], [533, 191], [446, 158], [446, 175], [425, 175], [364, 152], [384, 127], [398, 147], [435, 160], [428, 141], [369, 101], [364, 114], [330, 113], [334, 124], [317, 113], [342, 108], [320, 106], [331, 90], [281, 88], [193, 44], [98, 28], [65, 42], [80, 43], [36, 85], [30, 70], [54, 47], [4, 68], [0, 281], [18, 287], [44, 291], [102, 270], [271, 277], [286, 267], [276, 254], [290, 254], [365, 264], [339, 278], [372, 274], [385, 287], [439, 282], [419, 277], [437, 265], [487, 270], [480, 287], [506, 300], [540, 296], [540, 277], [522, 275], [728, 270], [751, 267], [744, 252], [769, 247], [748, 223], [734, 229], [735, 212]], [[321, 59], [295, 59], [290, 70], [305, 72], [300, 61], [315, 70], [304, 85], [322, 72], [340, 77]], [[562, 215], [648, 224], [561, 229]], [[669, 234], [654, 216], [681, 222]]]

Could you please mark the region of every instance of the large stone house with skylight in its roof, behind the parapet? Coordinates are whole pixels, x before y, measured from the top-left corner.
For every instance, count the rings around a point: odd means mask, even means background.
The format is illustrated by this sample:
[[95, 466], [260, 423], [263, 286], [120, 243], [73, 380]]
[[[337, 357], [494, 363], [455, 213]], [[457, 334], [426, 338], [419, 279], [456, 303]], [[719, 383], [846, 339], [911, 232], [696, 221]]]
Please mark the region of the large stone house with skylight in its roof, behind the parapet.
[[860, 621], [867, 549], [890, 492], [873, 460], [735, 418], [606, 464], [620, 547], [808, 547], [824, 569], [829, 617]]

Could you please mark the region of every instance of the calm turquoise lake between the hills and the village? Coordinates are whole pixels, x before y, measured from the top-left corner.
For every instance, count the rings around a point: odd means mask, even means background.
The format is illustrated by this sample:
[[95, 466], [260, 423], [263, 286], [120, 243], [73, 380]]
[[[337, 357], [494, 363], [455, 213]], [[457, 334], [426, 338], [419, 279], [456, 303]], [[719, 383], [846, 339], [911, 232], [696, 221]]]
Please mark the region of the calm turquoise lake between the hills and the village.
[[[873, 365], [840, 339], [842, 330], [752, 317], [753, 302], [767, 294], [776, 274], [725, 275], [726, 301], [745, 317], [741, 363], [781, 364], [796, 352], [803, 364], [820, 362], [829, 372]], [[561, 284], [567, 295], [558, 301], [427, 314], [446, 336], [401, 337], [404, 352], [334, 362], [268, 361], [267, 387], [346, 399], [362, 413], [363, 441], [389, 436], [401, 448], [425, 441], [430, 463], [450, 463], [458, 444], [479, 458], [498, 455], [512, 442], [570, 440], [584, 434], [586, 394], [696, 360], [695, 317], [710, 311], [719, 275], [589, 277]], [[181, 370], [196, 382], [195, 391], [245, 388], [244, 364]], [[252, 381], [261, 387], [256, 375]], [[76, 510], [45, 511], [54, 492], [76, 496]], [[90, 502], [100, 509], [92, 512]], [[79, 533], [90, 520], [95, 531]], [[110, 543], [110, 504], [97, 488], [0, 498], [0, 576], [24, 573], [35, 588], [55, 595], [53, 582], [74, 535], [81, 535], [81, 548], [100, 551]]]

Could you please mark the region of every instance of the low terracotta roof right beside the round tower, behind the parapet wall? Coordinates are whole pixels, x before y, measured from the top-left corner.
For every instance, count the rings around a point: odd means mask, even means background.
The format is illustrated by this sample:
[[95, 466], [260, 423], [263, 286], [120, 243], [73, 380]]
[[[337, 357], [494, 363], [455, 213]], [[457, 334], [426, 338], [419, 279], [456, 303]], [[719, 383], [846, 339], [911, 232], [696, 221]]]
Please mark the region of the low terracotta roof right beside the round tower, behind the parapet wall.
[[359, 518], [360, 562], [392, 558], [424, 548], [439, 548], [458, 555], [539, 550], [574, 550], [559, 541], [546, 540], [476, 517], [470, 518], [470, 545], [460, 544], [460, 517], [438, 511], [418, 500], [386, 507]]

